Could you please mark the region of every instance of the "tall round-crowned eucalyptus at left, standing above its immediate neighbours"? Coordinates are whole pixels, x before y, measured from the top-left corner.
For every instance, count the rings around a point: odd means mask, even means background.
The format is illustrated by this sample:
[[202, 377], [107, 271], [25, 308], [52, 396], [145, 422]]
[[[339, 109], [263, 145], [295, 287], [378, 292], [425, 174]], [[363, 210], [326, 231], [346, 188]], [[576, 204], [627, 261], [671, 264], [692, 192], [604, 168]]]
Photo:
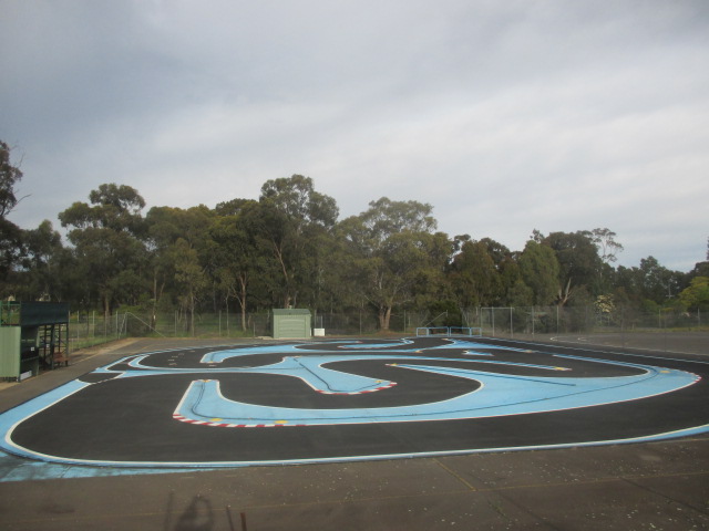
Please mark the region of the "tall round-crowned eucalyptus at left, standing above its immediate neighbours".
[[107, 315], [115, 304], [135, 303], [145, 289], [145, 200], [135, 188], [115, 184], [101, 185], [89, 200], [74, 202], [59, 219], [70, 229], [90, 296], [99, 299]]

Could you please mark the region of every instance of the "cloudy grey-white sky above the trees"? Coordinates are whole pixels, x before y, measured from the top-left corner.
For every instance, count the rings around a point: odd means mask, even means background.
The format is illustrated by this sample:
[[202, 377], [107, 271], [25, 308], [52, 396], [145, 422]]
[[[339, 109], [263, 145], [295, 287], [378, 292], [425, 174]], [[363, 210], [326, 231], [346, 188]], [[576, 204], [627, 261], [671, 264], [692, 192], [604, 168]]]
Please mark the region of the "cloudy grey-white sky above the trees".
[[311, 177], [522, 250], [608, 228], [689, 271], [709, 237], [706, 0], [0, 0], [24, 229], [115, 183], [155, 206]]

